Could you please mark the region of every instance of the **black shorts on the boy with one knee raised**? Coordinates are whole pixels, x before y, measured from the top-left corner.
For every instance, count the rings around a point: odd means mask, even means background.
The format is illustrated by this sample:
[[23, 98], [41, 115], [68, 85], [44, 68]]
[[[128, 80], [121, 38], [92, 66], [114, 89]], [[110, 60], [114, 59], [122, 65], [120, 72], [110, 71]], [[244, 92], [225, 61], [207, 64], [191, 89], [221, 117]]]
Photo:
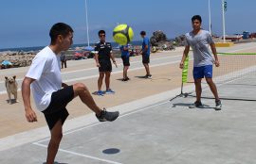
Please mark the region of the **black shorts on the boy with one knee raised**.
[[50, 130], [59, 120], [64, 124], [65, 119], [69, 115], [65, 107], [73, 98], [73, 86], [52, 92], [49, 106], [42, 111], [45, 114], [46, 123]]

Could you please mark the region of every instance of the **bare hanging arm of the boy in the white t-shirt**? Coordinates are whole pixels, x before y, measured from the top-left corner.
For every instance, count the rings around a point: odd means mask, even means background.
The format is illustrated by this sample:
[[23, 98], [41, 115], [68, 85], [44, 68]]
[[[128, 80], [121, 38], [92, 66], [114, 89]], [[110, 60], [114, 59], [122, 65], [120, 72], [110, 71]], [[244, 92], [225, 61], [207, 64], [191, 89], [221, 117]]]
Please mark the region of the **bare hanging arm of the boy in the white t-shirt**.
[[22, 82], [22, 98], [24, 102], [27, 122], [30, 123], [37, 122], [36, 113], [30, 104], [30, 85], [33, 81], [35, 81], [35, 79], [25, 77]]

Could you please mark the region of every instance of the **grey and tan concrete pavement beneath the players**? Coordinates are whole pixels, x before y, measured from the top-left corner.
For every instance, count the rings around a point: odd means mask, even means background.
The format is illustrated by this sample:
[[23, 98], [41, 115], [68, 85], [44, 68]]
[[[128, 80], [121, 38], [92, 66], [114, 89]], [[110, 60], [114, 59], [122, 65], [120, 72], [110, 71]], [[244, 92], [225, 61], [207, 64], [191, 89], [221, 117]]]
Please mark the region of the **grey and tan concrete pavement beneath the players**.
[[[255, 52], [255, 45], [241, 44], [219, 51]], [[143, 67], [139, 68], [140, 57], [132, 58], [138, 65], [135, 63], [135, 68], [129, 72], [131, 81], [119, 81], [120, 70], [114, 71], [111, 85], [117, 93], [94, 96], [101, 107], [120, 111], [121, 116], [114, 123], [98, 123], [79, 99], [70, 103], [70, 117], [64, 125], [64, 140], [56, 161], [78, 164], [255, 163], [255, 102], [223, 101], [224, 109], [217, 112], [212, 108], [213, 100], [204, 100], [206, 107], [199, 109], [188, 108], [194, 98], [169, 101], [180, 92], [178, 63], [181, 54], [182, 49], [152, 55], [152, 80], [139, 78], [145, 74]], [[66, 74], [79, 73], [72, 76], [77, 78], [74, 81], [83, 82], [94, 91], [98, 72], [92, 68], [93, 61], [84, 62], [86, 64], [70, 62]], [[85, 71], [79, 72], [82, 69]], [[20, 78], [26, 68], [21, 70], [16, 72]], [[74, 82], [69, 79], [70, 83]], [[186, 85], [185, 90], [193, 90], [193, 85]], [[233, 94], [236, 88], [229, 90]], [[237, 91], [236, 94], [241, 93], [241, 90]], [[253, 92], [251, 94], [255, 96]], [[22, 103], [7, 105], [5, 93], [0, 99], [0, 118], [4, 124], [0, 131], [0, 163], [43, 163], [49, 134], [42, 114], [38, 113], [38, 123], [27, 123]]]

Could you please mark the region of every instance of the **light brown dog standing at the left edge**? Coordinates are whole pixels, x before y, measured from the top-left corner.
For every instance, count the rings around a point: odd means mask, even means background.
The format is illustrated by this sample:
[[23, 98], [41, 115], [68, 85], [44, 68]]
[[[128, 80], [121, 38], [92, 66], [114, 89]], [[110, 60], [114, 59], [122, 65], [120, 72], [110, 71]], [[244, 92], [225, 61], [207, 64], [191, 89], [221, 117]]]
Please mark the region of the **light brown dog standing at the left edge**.
[[16, 75], [13, 75], [12, 77], [5, 76], [5, 78], [6, 78], [6, 88], [7, 88], [8, 97], [9, 97], [9, 104], [11, 104], [11, 98], [10, 98], [11, 94], [14, 95], [15, 103], [19, 102], [17, 99], [18, 83], [15, 80]]

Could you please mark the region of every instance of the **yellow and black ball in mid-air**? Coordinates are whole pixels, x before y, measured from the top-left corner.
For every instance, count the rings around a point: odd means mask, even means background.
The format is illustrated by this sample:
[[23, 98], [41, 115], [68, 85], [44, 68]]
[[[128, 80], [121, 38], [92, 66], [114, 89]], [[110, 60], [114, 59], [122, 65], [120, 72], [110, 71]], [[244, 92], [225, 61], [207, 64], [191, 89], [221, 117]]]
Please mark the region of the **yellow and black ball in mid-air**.
[[133, 41], [134, 31], [129, 25], [118, 25], [113, 30], [113, 39], [120, 45], [126, 45], [128, 42]]

